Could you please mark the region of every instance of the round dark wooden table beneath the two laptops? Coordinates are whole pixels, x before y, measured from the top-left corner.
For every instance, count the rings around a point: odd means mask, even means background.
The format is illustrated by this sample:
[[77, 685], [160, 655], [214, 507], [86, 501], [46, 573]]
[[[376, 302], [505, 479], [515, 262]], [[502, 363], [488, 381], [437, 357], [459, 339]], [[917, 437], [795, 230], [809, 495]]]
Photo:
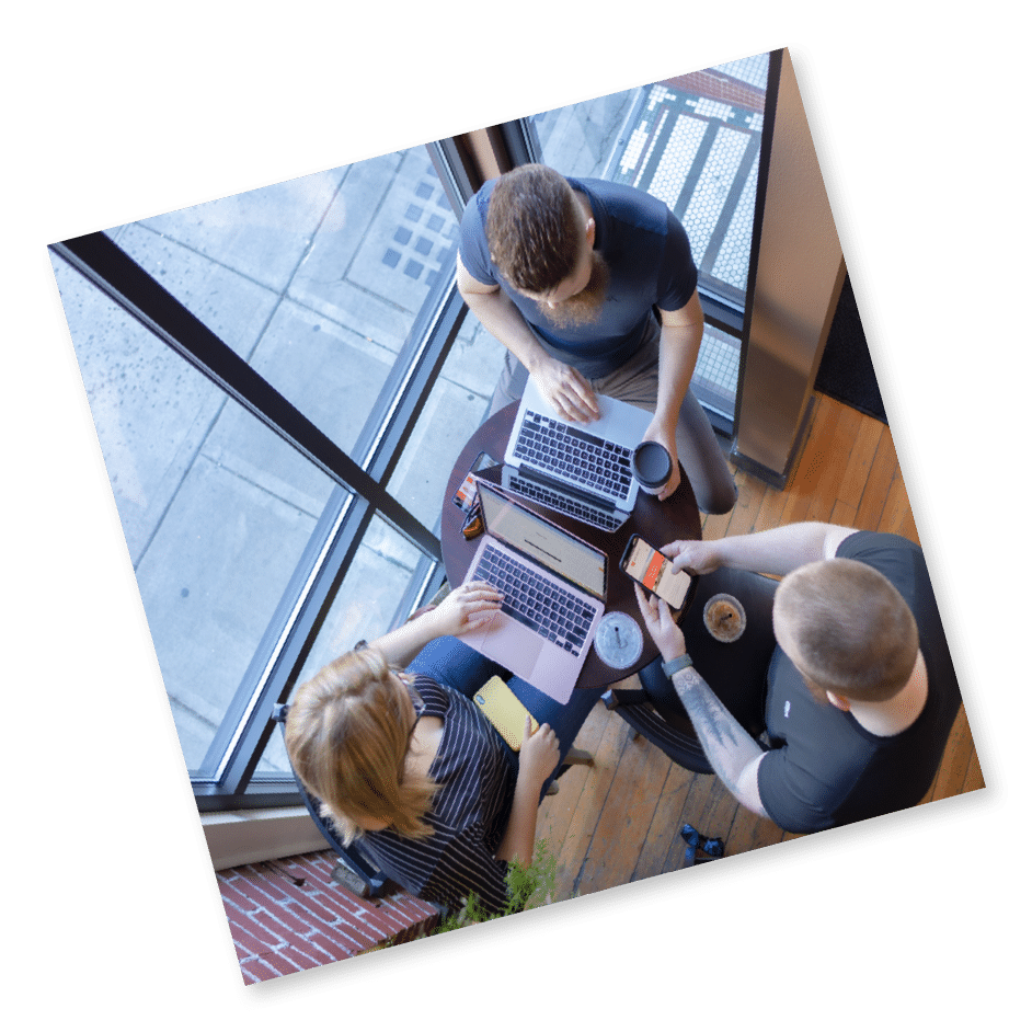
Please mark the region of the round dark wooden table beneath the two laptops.
[[[440, 516], [440, 550], [445, 561], [445, 571], [448, 574], [448, 583], [452, 586], [458, 586], [466, 580], [466, 573], [480, 544], [480, 539], [467, 541], [462, 537], [465, 517], [451, 500], [481, 451], [486, 451], [495, 461], [501, 463], [505, 456], [505, 447], [508, 444], [518, 408], [519, 405], [514, 402], [491, 416], [469, 439], [456, 460], [455, 468], [451, 470]], [[493, 478], [488, 475], [485, 479], [490, 481]], [[598, 657], [598, 653], [592, 649], [584, 663], [584, 668], [581, 670], [581, 676], [577, 678], [576, 687], [597, 688], [603, 685], [611, 685], [614, 681], [630, 677], [631, 674], [647, 666], [660, 653], [642, 621], [641, 611], [638, 608], [638, 598], [634, 595], [634, 582], [620, 569], [620, 558], [623, 555], [627, 542], [633, 534], [640, 535], [656, 548], [661, 548], [670, 541], [698, 540], [702, 537], [699, 507], [696, 504], [695, 494], [688, 483], [688, 478], [685, 475], [684, 468], [681, 469], [680, 484], [677, 491], [665, 502], [660, 502], [655, 496], [639, 491], [638, 502], [634, 505], [631, 518], [619, 530], [611, 534], [599, 530], [589, 524], [581, 523], [581, 520], [571, 516], [553, 512], [526, 498], [518, 498], [518, 501], [521, 505], [540, 513], [547, 519], [552, 520], [552, 523], [606, 553], [609, 560], [606, 611], [626, 612], [641, 628], [642, 654], [633, 666], [626, 669], [614, 669], [603, 663]], [[693, 589], [695, 585], [692, 585]], [[690, 605], [691, 595], [689, 595], [688, 603], [685, 606], [686, 611], [690, 608]]]

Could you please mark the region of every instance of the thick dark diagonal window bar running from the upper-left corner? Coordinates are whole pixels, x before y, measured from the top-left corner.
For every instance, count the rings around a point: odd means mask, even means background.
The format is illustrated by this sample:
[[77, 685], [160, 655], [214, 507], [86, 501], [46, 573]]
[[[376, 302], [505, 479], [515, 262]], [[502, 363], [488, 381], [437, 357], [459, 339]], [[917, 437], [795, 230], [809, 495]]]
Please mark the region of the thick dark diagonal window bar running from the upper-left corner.
[[87, 233], [50, 248], [334, 482], [369, 498], [420, 549], [440, 554], [426, 527], [107, 237]]

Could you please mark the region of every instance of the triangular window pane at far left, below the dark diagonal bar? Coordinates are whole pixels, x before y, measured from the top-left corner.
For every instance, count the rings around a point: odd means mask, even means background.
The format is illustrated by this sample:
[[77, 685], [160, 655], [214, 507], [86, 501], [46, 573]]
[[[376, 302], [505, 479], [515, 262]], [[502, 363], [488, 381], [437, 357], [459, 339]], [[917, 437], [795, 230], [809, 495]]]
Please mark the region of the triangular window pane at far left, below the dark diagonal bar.
[[54, 263], [180, 746], [202, 766], [329, 478]]

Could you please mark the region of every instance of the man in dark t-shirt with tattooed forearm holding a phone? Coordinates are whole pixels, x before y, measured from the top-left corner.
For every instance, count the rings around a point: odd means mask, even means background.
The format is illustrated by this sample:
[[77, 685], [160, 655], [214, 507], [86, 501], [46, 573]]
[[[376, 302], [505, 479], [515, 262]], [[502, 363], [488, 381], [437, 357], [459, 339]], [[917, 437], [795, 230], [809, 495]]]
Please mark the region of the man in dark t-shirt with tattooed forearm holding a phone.
[[741, 803], [786, 830], [815, 832], [920, 802], [961, 696], [918, 546], [811, 523], [663, 551], [699, 574], [732, 566], [783, 576], [773, 596], [766, 750], [693, 668], [665, 605], [639, 594], [664, 670]]

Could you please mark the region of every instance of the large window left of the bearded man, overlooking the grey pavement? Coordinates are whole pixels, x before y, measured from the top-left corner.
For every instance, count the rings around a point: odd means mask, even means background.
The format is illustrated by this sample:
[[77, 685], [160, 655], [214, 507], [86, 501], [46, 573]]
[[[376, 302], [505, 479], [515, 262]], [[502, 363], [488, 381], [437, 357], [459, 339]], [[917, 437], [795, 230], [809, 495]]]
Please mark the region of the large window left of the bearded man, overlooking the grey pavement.
[[[460, 321], [457, 221], [422, 147], [106, 237], [272, 388], [268, 411], [238, 402], [117, 285], [51, 253], [180, 748], [198, 786], [246, 769], [239, 793], [251, 770], [289, 773], [271, 703], [433, 586], [425, 542], [503, 348]], [[294, 446], [310, 432], [371, 480], [357, 490], [346, 462], [328, 472]]]

